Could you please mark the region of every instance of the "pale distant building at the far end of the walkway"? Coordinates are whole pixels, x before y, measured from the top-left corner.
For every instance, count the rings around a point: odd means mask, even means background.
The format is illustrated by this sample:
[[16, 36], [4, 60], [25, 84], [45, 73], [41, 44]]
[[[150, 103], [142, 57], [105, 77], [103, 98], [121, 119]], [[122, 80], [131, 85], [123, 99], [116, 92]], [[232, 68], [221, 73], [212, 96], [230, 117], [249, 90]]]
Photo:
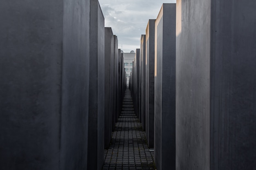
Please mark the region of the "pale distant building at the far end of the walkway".
[[132, 72], [132, 62], [135, 58], [135, 52], [131, 51], [130, 53], [124, 53], [124, 68], [126, 71], [127, 84], [129, 84], [130, 73]]

